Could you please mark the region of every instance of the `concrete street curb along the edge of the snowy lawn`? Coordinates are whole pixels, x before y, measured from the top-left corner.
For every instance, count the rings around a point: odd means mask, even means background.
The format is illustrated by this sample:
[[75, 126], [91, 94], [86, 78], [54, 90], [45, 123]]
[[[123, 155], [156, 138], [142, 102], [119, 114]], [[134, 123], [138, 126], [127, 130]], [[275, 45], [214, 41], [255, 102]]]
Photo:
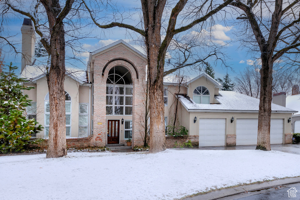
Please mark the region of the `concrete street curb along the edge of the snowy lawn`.
[[287, 185], [292, 183], [300, 183], [300, 177], [298, 176], [298, 177], [291, 177], [291, 178], [276, 179], [276, 180], [271, 180], [263, 183], [254, 183], [254, 184], [250, 183], [247, 185], [241, 185], [241, 186], [236, 186], [236, 187], [231, 187], [226, 189], [213, 190], [205, 194], [199, 194], [192, 197], [181, 198], [181, 199], [182, 200], [216, 200], [219, 198], [236, 195], [243, 192], [253, 192], [257, 190], [268, 189], [271, 187]]

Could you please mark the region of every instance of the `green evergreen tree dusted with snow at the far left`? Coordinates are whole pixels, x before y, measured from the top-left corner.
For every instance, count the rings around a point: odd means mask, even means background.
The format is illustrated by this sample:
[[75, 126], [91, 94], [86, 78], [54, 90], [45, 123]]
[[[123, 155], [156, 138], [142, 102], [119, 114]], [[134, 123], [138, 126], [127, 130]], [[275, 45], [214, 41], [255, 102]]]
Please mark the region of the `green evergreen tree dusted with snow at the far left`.
[[23, 90], [34, 87], [22, 84], [26, 80], [16, 76], [17, 67], [13, 67], [12, 62], [7, 66], [8, 71], [0, 74], [0, 153], [23, 150], [28, 144], [29, 134], [43, 128], [41, 125], [35, 127], [36, 120], [26, 119], [24, 115], [31, 101]]

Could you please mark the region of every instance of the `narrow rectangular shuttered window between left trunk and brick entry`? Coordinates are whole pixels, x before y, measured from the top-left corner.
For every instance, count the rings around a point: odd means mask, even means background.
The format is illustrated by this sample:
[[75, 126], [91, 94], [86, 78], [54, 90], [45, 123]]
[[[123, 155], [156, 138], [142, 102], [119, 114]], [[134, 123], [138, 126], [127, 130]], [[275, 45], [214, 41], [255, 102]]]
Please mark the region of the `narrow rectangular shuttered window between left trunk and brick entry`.
[[88, 103], [79, 103], [79, 137], [88, 136]]

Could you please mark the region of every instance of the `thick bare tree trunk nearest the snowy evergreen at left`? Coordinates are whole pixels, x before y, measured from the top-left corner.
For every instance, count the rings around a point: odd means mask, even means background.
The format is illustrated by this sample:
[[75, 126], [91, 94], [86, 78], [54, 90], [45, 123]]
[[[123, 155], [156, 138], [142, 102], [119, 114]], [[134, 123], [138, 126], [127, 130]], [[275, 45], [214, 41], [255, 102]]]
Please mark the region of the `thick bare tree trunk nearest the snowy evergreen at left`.
[[[46, 158], [57, 158], [67, 155], [66, 144], [66, 112], [65, 112], [65, 40], [62, 20], [57, 18], [60, 13], [58, 0], [41, 1], [46, 8], [50, 29], [51, 66], [47, 75], [50, 103], [49, 140]], [[70, 7], [73, 0], [70, 2]], [[67, 5], [68, 6], [68, 5]], [[58, 9], [52, 9], [58, 8]], [[58, 22], [58, 23], [57, 23]], [[43, 41], [42, 41], [43, 43]]]

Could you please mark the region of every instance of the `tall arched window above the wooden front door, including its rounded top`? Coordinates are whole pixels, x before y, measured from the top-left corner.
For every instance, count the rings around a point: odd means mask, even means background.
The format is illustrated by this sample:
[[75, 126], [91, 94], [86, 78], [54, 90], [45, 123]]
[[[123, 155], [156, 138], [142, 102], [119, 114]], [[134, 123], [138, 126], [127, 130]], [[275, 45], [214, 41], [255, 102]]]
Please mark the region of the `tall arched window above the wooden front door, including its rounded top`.
[[106, 81], [106, 114], [132, 115], [131, 73], [122, 66], [110, 69]]

